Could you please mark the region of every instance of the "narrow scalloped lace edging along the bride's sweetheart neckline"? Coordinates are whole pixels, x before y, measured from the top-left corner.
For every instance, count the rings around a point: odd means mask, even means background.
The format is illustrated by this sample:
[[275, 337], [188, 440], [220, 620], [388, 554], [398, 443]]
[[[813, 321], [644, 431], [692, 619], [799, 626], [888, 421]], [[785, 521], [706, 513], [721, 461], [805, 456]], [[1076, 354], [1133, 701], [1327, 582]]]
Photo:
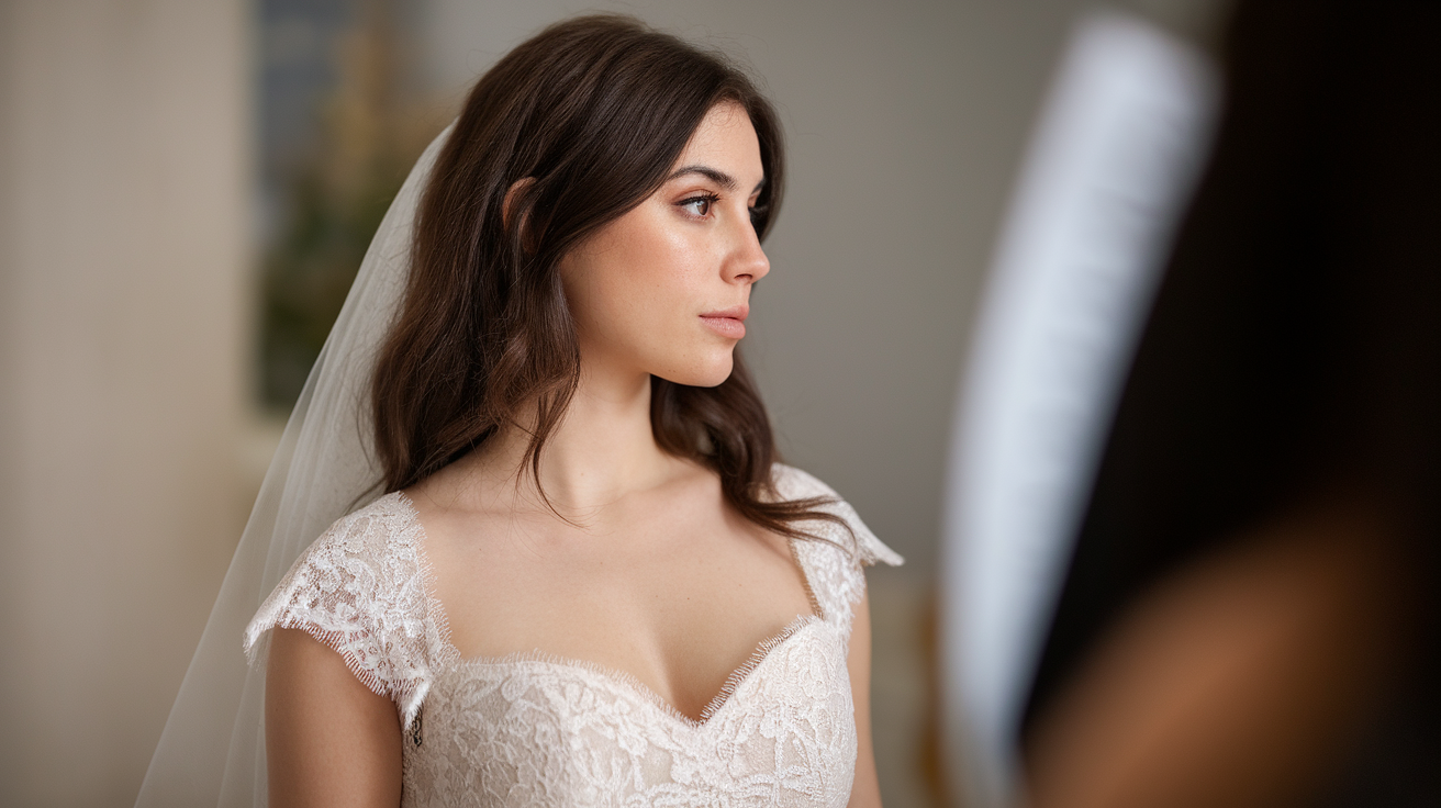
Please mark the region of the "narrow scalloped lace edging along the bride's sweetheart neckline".
[[[661, 713], [670, 716], [672, 719], [676, 719], [677, 722], [683, 723], [690, 729], [699, 730], [709, 726], [710, 719], [713, 719], [726, 704], [731, 703], [731, 696], [735, 693], [735, 690], [741, 684], [744, 684], [748, 678], [751, 678], [755, 670], [759, 668], [761, 664], [771, 657], [771, 651], [784, 645], [788, 639], [800, 634], [807, 627], [820, 625], [826, 622], [824, 615], [820, 612], [820, 603], [817, 602], [814, 591], [811, 588], [810, 570], [806, 569], [804, 562], [801, 562], [800, 555], [795, 552], [795, 540], [790, 539], [787, 544], [791, 549], [791, 557], [795, 560], [795, 566], [800, 567], [801, 582], [806, 586], [806, 596], [807, 599], [810, 599], [811, 608], [816, 609], [816, 614], [795, 615], [795, 619], [787, 624], [785, 628], [782, 628], [780, 632], [772, 634], [765, 639], [761, 639], [761, 642], [758, 642], [755, 648], [751, 651], [751, 655], [746, 658], [746, 661], [742, 663], [741, 667], [731, 671], [729, 675], [726, 675], [725, 681], [720, 684], [720, 691], [716, 693], [713, 697], [710, 697], [709, 701], [706, 701], [706, 706], [700, 710], [699, 719], [693, 719], [682, 713], [674, 704], [667, 701], [666, 697], [657, 693], [656, 688], [646, 684], [635, 674], [625, 670], [612, 668], [601, 663], [592, 663], [589, 660], [576, 660], [574, 657], [550, 654], [546, 651], [540, 651], [539, 648], [533, 651], [514, 651], [503, 657], [465, 657], [461, 654], [460, 648], [457, 648], [455, 644], [451, 642], [450, 616], [445, 612], [445, 605], [441, 603], [440, 598], [434, 595], [435, 570], [431, 567], [431, 559], [425, 553], [424, 544], [428, 539], [428, 534], [425, 533], [425, 526], [421, 523], [421, 514], [415, 508], [415, 503], [411, 501], [411, 497], [406, 495], [403, 491], [395, 491], [393, 494], [402, 506], [405, 520], [409, 523], [408, 527], [412, 529], [409, 531], [412, 536], [411, 549], [415, 552], [415, 563], [421, 570], [421, 586], [424, 588], [422, 593], [425, 596], [427, 616], [435, 622], [437, 632], [440, 634], [440, 644], [442, 654], [442, 660], [440, 660], [440, 663], [444, 665], [487, 667], [487, 665], [501, 665], [501, 664], [530, 661], [530, 663], [546, 664], [550, 667], [588, 670], [597, 675], [601, 675], [607, 680], [611, 680], [612, 683], [621, 684], [635, 691], [635, 694], [641, 696], [646, 701], [650, 701], [654, 706], [660, 707]], [[532, 657], [532, 658], [526, 660], [525, 657]]]

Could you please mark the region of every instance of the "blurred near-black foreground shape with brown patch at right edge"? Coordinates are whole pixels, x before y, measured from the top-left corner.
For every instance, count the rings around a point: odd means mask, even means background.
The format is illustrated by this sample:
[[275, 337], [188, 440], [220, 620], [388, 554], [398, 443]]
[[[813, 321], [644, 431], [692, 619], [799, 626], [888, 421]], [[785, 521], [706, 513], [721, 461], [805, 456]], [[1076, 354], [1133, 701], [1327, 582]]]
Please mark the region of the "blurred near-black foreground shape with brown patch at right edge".
[[1026, 720], [1033, 802], [1438, 805], [1441, 6], [1241, 3]]

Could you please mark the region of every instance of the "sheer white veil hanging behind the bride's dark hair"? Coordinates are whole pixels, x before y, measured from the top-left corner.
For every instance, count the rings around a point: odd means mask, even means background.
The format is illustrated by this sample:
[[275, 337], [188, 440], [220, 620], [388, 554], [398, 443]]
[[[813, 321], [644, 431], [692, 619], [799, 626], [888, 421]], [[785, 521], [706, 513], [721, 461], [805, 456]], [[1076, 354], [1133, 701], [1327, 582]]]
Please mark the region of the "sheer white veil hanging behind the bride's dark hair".
[[138, 807], [265, 805], [264, 651], [246, 665], [245, 625], [326, 527], [380, 478], [369, 451], [367, 385], [411, 266], [415, 207], [452, 127], [411, 170], [305, 380], [160, 736]]

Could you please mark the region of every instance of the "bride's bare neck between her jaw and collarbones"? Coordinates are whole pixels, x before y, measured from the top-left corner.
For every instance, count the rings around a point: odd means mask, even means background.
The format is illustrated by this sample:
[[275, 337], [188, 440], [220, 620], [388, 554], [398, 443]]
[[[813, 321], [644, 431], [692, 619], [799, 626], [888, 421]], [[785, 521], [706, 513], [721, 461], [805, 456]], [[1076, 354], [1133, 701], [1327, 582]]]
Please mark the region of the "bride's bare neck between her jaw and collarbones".
[[[525, 462], [529, 441], [527, 432], [507, 428], [487, 441], [484, 461], [509, 475], [507, 488], [539, 504]], [[582, 364], [579, 386], [540, 448], [539, 482], [562, 514], [584, 514], [663, 482], [674, 462], [651, 432], [650, 374]]]

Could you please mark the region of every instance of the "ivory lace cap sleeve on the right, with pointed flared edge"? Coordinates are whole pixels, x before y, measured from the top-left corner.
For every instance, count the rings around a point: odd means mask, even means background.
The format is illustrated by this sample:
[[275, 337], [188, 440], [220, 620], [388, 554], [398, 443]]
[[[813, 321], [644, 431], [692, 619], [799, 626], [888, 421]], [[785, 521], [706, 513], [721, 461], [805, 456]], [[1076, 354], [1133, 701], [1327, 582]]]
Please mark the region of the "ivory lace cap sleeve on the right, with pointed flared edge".
[[831, 500], [817, 510], [831, 513], [844, 520], [846, 527], [831, 521], [807, 521], [797, 527], [813, 536], [827, 539], [830, 544], [820, 542], [797, 542], [795, 555], [806, 570], [811, 593], [824, 612], [826, 619], [839, 619], [849, 627], [852, 606], [860, 602], [866, 592], [866, 576], [863, 565], [886, 563], [899, 566], [905, 563], [895, 550], [886, 547], [875, 533], [860, 521], [860, 514], [850, 503], [842, 500], [830, 487], [810, 474], [777, 464], [774, 471], [775, 488], [785, 500], [804, 500], [810, 497], [824, 497]]

